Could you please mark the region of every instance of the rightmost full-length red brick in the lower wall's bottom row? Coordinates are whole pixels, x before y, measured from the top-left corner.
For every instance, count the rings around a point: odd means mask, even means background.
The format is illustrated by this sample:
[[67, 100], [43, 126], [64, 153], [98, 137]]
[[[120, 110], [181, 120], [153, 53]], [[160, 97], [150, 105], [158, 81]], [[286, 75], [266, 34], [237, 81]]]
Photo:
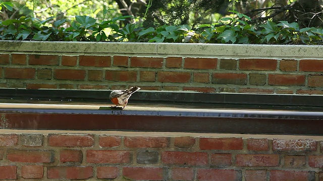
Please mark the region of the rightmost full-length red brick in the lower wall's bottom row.
[[270, 180], [280, 181], [307, 181], [308, 173], [306, 171], [287, 171], [287, 170], [271, 170]]

